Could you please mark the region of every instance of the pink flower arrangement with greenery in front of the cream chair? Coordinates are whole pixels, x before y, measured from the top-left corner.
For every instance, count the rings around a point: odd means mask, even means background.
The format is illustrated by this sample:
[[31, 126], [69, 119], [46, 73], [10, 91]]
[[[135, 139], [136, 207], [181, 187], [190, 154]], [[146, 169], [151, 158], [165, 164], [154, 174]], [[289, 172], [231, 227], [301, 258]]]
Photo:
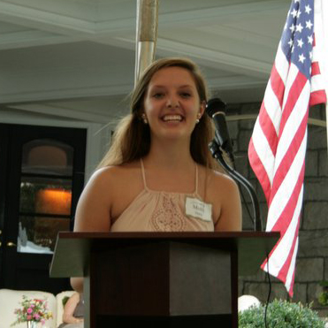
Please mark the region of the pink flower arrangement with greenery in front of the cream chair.
[[25, 322], [44, 324], [46, 320], [52, 317], [46, 300], [28, 299], [27, 295], [23, 295], [23, 301], [19, 304], [22, 308], [15, 309], [14, 313], [17, 315], [17, 320], [11, 326]]

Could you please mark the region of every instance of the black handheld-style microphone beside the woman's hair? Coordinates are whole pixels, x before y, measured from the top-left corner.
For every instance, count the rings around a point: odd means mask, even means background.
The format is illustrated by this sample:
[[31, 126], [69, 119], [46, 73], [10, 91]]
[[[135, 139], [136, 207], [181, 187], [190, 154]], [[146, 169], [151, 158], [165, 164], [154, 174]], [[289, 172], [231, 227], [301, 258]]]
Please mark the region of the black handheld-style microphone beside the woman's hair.
[[233, 145], [230, 140], [228, 127], [225, 121], [225, 107], [226, 104], [219, 98], [210, 99], [206, 105], [206, 112], [214, 121], [215, 141], [218, 146], [227, 153], [233, 161]]

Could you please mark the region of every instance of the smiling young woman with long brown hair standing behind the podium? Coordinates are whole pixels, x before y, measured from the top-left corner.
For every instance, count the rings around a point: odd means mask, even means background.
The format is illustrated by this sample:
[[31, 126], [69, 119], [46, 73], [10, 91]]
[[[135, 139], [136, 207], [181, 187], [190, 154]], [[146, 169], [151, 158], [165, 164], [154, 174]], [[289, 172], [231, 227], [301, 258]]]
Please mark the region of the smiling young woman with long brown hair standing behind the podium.
[[159, 59], [133, 90], [132, 113], [85, 187], [76, 232], [238, 231], [238, 187], [213, 170], [213, 127], [197, 66]]

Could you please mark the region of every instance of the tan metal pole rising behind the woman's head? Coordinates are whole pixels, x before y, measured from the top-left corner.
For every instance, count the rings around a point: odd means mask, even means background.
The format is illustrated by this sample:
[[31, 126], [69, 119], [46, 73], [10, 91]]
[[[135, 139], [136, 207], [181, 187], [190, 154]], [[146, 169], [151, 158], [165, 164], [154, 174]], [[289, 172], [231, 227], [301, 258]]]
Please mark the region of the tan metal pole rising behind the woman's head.
[[156, 52], [158, 0], [137, 0], [134, 85]]

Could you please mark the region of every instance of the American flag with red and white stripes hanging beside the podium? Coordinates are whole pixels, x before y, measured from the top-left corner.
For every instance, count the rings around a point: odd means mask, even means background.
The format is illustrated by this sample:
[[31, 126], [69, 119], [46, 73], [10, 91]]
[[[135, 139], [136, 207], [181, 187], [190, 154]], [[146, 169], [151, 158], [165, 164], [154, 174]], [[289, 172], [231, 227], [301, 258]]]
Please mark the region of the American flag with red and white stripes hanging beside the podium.
[[[264, 271], [284, 282], [293, 296], [303, 197], [309, 105], [326, 95], [314, 42], [315, 5], [294, 0], [248, 146], [248, 158], [268, 203], [266, 231], [280, 239]], [[324, 0], [325, 1], [325, 0]], [[317, 19], [317, 16], [316, 16]]]

